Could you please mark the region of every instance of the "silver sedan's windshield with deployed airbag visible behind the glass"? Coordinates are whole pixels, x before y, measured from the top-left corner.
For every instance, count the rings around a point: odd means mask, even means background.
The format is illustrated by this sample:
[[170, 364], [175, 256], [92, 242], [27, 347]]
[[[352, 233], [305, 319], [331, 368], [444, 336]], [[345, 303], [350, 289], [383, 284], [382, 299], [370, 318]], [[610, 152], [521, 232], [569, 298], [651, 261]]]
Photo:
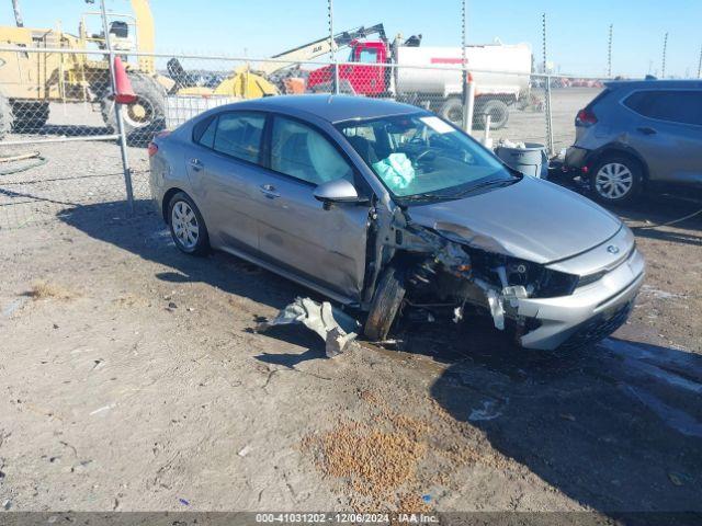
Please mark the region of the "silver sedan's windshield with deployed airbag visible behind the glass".
[[431, 114], [337, 125], [395, 201], [458, 198], [519, 181], [489, 151]]

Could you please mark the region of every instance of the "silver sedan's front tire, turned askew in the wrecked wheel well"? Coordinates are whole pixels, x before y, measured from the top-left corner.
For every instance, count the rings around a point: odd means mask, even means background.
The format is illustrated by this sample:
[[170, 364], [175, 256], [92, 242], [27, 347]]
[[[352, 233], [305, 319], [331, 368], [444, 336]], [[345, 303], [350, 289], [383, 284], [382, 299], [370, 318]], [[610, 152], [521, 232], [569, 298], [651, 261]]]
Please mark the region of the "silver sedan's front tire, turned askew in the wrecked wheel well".
[[365, 338], [374, 342], [387, 339], [403, 305], [403, 299], [405, 299], [405, 291], [400, 272], [389, 265], [383, 272], [375, 287], [371, 310], [363, 328]]

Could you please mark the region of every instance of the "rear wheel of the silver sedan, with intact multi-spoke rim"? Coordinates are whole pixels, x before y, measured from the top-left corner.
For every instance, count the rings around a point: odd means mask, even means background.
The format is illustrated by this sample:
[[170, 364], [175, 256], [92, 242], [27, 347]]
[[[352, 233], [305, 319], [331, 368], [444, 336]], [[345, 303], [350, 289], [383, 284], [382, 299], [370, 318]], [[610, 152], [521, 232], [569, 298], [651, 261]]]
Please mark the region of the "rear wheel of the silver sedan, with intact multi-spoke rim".
[[[178, 192], [168, 203], [168, 226], [171, 238], [181, 252], [191, 255], [206, 255], [210, 252], [205, 220], [193, 199], [184, 192]], [[193, 226], [195, 231], [192, 230]]]

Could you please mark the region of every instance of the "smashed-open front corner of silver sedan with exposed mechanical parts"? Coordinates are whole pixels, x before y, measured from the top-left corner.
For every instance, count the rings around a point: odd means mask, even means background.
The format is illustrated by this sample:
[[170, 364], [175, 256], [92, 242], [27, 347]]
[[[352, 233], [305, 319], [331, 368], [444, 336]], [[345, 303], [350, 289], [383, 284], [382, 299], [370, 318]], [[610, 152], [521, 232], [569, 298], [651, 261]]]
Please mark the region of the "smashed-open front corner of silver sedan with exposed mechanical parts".
[[[512, 331], [521, 344], [521, 336], [540, 325], [537, 309], [524, 300], [567, 296], [578, 285], [577, 275], [509, 255], [496, 240], [474, 236], [471, 243], [455, 232], [412, 222], [401, 209], [395, 210], [385, 231], [376, 229], [378, 258], [366, 274], [372, 301], [364, 328], [373, 340], [386, 339], [390, 323], [378, 323], [400, 312], [457, 323], [472, 309], [489, 315], [496, 329]], [[401, 281], [401, 287], [396, 285], [390, 293], [400, 290], [401, 302], [385, 298], [388, 282], [383, 275], [388, 272]], [[388, 312], [388, 308], [396, 310]]]

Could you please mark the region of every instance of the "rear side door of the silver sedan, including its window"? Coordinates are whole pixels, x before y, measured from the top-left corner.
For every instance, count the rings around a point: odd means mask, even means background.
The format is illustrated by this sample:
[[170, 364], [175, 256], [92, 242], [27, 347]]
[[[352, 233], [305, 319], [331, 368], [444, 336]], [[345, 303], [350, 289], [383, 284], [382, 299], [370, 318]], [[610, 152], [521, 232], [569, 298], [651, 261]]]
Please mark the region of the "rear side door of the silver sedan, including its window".
[[200, 136], [195, 126], [196, 148], [185, 162], [215, 245], [258, 254], [264, 124], [264, 113], [240, 111], [211, 117]]

